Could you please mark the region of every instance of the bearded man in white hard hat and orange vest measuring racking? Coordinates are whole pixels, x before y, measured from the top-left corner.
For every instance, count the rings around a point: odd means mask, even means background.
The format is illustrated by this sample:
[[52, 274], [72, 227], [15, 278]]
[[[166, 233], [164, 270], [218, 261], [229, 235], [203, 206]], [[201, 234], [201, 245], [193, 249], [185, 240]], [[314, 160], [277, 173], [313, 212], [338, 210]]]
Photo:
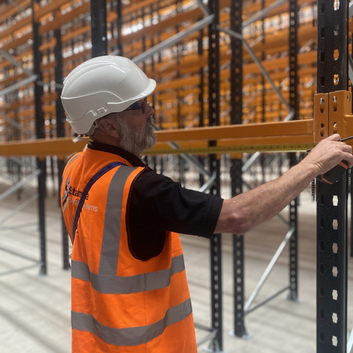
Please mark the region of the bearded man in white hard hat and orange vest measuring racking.
[[155, 81], [130, 60], [102, 56], [65, 79], [61, 99], [91, 137], [67, 163], [62, 211], [73, 242], [72, 352], [197, 352], [179, 235], [243, 234], [279, 213], [352, 147], [335, 134], [297, 166], [224, 200], [182, 188], [138, 158], [153, 146]]

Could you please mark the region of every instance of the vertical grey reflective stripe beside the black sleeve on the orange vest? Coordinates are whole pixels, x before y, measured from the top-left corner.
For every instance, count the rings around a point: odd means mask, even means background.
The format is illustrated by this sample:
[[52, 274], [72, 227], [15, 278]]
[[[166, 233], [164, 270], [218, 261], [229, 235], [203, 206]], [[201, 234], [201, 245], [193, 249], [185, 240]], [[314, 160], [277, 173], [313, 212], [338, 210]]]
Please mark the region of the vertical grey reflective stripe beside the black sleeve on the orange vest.
[[[138, 167], [120, 166], [108, 187], [98, 274], [115, 276], [120, 243], [122, 194], [128, 176]], [[125, 220], [124, 220], [125, 221]]]

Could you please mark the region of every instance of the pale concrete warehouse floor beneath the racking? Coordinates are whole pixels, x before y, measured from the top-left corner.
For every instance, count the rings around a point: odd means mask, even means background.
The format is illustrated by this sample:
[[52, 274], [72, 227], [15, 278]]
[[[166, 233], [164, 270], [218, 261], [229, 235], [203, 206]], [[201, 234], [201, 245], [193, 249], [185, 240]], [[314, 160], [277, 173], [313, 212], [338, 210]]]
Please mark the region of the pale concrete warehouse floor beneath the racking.
[[[0, 193], [8, 186], [0, 184]], [[24, 190], [30, 195], [30, 188]], [[224, 195], [227, 197], [227, 195]], [[18, 205], [14, 196], [0, 202], [5, 216]], [[0, 352], [68, 353], [71, 349], [70, 271], [61, 269], [61, 222], [56, 198], [46, 200], [48, 275], [38, 269], [0, 277]], [[299, 293], [302, 303], [284, 300], [281, 295], [252, 312], [246, 327], [252, 336], [243, 341], [228, 335], [233, 327], [232, 236], [223, 234], [223, 330], [224, 350], [229, 353], [314, 353], [316, 351], [316, 204], [309, 188], [302, 193], [299, 207]], [[288, 211], [282, 211], [287, 217]], [[6, 222], [16, 225], [37, 220], [33, 202]], [[38, 257], [36, 226], [23, 229], [0, 228], [0, 246]], [[245, 285], [249, 297], [265, 267], [287, 231], [277, 217], [257, 226], [245, 236]], [[185, 266], [195, 322], [210, 325], [209, 240], [181, 235]], [[288, 249], [282, 253], [257, 301], [288, 283]], [[30, 264], [0, 251], [0, 272]], [[348, 264], [348, 294], [353, 287], [353, 259]], [[353, 327], [353, 303], [348, 297], [348, 330]], [[197, 330], [197, 339], [205, 333]], [[206, 345], [203, 345], [205, 347]], [[199, 352], [202, 352], [202, 348]]]

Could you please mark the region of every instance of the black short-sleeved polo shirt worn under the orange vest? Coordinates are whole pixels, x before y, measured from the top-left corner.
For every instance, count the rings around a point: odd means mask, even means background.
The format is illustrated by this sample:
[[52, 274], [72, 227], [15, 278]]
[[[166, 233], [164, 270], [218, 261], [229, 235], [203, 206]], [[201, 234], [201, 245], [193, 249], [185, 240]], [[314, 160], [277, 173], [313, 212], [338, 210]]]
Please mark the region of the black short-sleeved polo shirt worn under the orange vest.
[[[137, 156], [120, 147], [92, 142], [88, 148], [116, 154], [134, 167], [146, 167]], [[165, 232], [209, 238], [214, 232], [223, 199], [185, 189], [179, 183], [148, 168], [134, 181], [126, 213], [128, 244], [140, 260], [157, 256]]]

